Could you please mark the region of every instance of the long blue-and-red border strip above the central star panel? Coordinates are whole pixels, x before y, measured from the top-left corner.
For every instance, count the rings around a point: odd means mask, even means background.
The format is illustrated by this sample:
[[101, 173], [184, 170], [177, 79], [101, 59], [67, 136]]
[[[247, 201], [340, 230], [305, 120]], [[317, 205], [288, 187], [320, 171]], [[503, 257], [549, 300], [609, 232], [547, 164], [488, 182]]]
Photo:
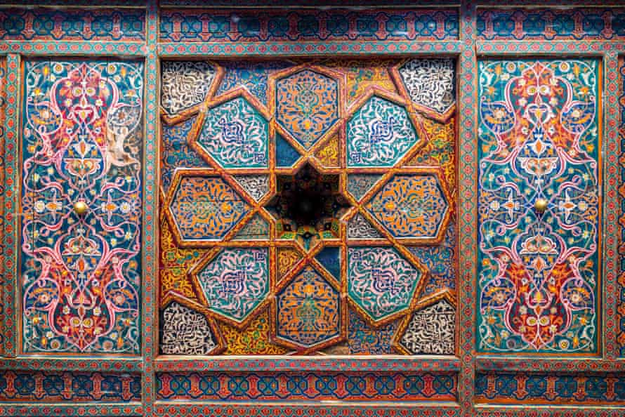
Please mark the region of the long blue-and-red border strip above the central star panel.
[[[165, 8], [163, 42], [411, 41], [458, 39], [458, 12], [438, 9], [180, 10]], [[278, 52], [278, 51], [276, 51]]]

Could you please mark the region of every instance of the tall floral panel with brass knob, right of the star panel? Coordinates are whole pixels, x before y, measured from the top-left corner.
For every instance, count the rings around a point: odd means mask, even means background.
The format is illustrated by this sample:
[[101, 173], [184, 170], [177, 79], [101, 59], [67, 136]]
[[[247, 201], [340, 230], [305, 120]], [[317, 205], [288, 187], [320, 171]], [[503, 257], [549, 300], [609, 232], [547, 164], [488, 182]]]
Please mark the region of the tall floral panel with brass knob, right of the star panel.
[[600, 64], [479, 62], [478, 349], [598, 352]]

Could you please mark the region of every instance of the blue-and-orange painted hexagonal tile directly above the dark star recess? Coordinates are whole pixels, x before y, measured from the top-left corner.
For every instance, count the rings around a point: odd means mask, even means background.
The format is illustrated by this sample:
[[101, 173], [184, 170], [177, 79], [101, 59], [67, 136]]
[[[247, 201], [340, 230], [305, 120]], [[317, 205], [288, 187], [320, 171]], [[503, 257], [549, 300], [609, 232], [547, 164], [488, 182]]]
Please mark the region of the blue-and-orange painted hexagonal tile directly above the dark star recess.
[[338, 82], [303, 69], [276, 82], [276, 120], [306, 149], [338, 121]]

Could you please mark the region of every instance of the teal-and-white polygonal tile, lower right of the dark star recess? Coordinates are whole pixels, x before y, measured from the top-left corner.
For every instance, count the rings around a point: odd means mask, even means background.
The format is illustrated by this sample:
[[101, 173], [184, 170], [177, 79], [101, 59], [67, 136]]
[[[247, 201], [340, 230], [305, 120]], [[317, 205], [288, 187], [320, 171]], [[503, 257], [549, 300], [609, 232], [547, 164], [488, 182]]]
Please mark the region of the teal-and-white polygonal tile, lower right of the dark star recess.
[[407, 310], [425, 273], [390, 247], [348, 250], [348, 296], [371, 324]]

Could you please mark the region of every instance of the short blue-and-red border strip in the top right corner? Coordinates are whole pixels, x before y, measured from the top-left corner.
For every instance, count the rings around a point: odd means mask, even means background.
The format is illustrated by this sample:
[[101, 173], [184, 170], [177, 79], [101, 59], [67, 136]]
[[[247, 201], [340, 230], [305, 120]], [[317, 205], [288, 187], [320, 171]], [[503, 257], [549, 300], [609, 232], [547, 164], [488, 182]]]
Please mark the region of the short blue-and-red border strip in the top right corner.
[[478, 36], [487, 40], [625, 39], [622, 8], [478, 9]]

